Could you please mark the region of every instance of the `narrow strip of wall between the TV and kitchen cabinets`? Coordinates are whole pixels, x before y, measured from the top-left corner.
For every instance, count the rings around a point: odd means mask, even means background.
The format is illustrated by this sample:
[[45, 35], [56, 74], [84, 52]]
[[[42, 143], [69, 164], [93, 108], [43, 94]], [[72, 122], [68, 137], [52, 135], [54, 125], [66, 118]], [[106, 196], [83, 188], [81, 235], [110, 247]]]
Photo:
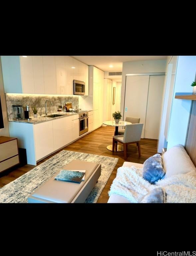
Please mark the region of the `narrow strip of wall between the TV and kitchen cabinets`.
[[0, 129], [0, 136], [8, 136], [9, 137], [10, 135], [9, 135], [9, 127], [8, 127], [5, 93], [4, 93], [4, 86], [3, 86], [1, 58], [0, 58], [0, 95], [1, 95], [1, 106], [2, 106], [3, 123], [4, 123], [4, 128]]

